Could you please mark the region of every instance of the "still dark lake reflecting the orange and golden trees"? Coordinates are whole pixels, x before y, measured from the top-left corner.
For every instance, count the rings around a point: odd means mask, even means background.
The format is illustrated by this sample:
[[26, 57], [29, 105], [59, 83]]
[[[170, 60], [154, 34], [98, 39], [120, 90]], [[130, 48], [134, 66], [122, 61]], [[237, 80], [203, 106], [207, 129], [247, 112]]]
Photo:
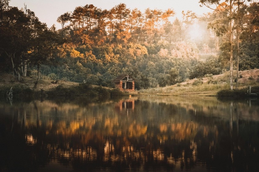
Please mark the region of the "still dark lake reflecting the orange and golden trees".
[[259, 101], [1, 102], [0, 171], [259, 171]]

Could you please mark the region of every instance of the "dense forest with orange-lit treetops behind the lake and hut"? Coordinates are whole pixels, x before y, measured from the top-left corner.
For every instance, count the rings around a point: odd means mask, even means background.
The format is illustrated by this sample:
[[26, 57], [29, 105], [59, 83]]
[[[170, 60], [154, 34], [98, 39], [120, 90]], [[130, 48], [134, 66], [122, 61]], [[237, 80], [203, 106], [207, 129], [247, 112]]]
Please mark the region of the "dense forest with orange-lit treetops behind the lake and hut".
[[198, 16], [168, 10], [112, 9], [92, 4], [60, 14], [50, 28], [25, 5], [0, 0], [0, 72], [38, 79], [113, 87], [120, 74], [135, 89], [173, 85], [186, 79], [259, 68], [259, 2], [200, 0], [213, 12]]

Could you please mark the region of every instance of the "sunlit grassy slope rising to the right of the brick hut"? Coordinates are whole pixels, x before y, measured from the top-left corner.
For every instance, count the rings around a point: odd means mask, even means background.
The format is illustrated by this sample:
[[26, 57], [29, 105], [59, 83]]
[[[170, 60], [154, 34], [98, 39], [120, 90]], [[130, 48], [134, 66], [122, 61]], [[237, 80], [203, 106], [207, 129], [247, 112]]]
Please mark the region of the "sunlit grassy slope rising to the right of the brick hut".
[[[234, 72], [233, 78], [236, 77]], [[200, 84], [195, 84], [195, 81]], [[138, 95], [188, 95], [188, 96], [215, 96], [218, 91], [229, 89], [229, 71], [224, 74], [214, 75], [212, 78], [192, 79], [179, 84], [163, 87], [140, 90]], [[238, 89], [248, 89], [248, 86], [259, 85], [259, 69], [239, 71]], [[203, 84], [201, 84], [203, 83]], [[234, 83], [234, 89], [236, 83]], [[133, 93], [132, 93], [133, 94]], [[135, 94], [133, 94], [135, 95]]]

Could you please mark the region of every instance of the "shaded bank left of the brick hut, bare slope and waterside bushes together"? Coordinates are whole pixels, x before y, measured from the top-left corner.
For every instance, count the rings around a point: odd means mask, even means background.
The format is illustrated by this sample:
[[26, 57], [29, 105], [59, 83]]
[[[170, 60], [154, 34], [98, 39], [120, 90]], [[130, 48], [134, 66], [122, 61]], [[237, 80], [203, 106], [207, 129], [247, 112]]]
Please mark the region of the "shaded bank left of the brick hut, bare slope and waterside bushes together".
[[86, 97], [98, 100], [113, 96], [129, 95], [127, 92], [122, 92], [115, 88], [105, 88], [62, 80], [51, 81], [41, 79], [37, 81], [33, 77], [22, 77], [22, 82], [17, 82], [10, 74], [0, 74], [1, 98], [5, 98], [9, 92], [12, 93], [13, 97], [19, 97], [21, 99]]

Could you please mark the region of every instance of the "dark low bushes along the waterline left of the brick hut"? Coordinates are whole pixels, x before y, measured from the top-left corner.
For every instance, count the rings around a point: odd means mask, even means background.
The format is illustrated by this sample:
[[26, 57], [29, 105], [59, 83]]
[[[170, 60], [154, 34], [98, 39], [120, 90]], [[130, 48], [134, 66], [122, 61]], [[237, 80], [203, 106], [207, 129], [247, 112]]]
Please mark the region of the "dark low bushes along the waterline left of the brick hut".
[[[4, 86], [0, 88], [1, 98], [5, 98], [7, 93], [10, 91], [10, 86]], [[129, 95], [127, 92], [122, 92], [117, 89], [103, 88], [101, 86], [92, 86], [89, 84], [78, 84], [75, 86], [64, 87], [58, 85], [54, 88], [44, 90], [32, 89], [22, 84], [13, 84], [12, 86], [13, 97], [20, 99], [30, 98], [73, 98], [73, 97], [85, 97], [94, 100], [108, 99], [115, 96]]]

